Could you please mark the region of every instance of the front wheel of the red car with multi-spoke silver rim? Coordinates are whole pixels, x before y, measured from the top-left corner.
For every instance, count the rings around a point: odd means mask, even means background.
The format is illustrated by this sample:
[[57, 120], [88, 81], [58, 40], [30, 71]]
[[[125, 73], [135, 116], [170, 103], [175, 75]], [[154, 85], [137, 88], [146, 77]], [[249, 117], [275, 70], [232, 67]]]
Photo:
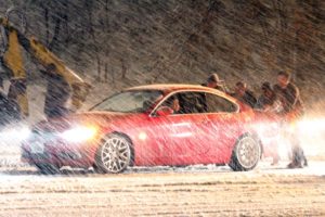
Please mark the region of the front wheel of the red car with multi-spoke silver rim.
[[96, 152], [94, 169], [98, 173], [118, 174], [127, 169], [132, 159], [131, 142], [116, 133], [104, 137]]

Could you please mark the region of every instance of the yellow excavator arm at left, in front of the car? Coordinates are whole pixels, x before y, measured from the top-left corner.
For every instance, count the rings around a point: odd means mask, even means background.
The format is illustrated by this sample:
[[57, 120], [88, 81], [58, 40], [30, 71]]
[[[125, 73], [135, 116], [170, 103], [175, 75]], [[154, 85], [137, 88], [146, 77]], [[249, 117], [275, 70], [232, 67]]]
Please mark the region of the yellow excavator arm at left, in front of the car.
[[[82, 80], [74, 71], [68, 68], [62, 60], [52, 53], [47, 47], [40, 43], [36, 38], [27, 38], [16, 28], [11, 26], [6, 18], [0, 17], [0, 27], [6, 34], [6, 48], [2, 55], [2, 62], [6, 68], [11, 71], [11, 88], [12, 95], [21, 106], [21, 113], [28, 115], [28, 100], [26, 93], [27, 73], [23, 64], [24, 48], [34, 59], [41, 65], [48, 67], [55, 66], [55, 73], [61, 76], [72, 89], [72, 104], [75, 108], [79, 108], [86, 100], [91, 86]], [[10, 88], [10, 91], [11, 91]], [[10, 93], [9, 93], [10, 94]]]

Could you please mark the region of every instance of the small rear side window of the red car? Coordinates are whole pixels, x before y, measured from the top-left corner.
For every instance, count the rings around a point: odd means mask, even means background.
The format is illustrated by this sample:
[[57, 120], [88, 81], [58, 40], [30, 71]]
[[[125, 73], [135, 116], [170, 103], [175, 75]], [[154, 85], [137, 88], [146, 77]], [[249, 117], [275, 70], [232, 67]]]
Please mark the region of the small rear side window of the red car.
[[206, 93], [205, 98], [208, 113], [234, 113], [237, 111], [237, 105], [225, 98], [212, 93]]

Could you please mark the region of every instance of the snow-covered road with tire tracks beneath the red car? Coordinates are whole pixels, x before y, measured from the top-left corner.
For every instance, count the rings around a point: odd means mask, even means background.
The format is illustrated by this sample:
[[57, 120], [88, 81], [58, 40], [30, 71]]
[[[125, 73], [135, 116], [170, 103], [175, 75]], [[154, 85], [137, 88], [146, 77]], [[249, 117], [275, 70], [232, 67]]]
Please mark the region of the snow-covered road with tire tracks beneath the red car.
[[0, 216], [325, 216], [325, 162], [132, 168], [122, 175], [1, 168]]

